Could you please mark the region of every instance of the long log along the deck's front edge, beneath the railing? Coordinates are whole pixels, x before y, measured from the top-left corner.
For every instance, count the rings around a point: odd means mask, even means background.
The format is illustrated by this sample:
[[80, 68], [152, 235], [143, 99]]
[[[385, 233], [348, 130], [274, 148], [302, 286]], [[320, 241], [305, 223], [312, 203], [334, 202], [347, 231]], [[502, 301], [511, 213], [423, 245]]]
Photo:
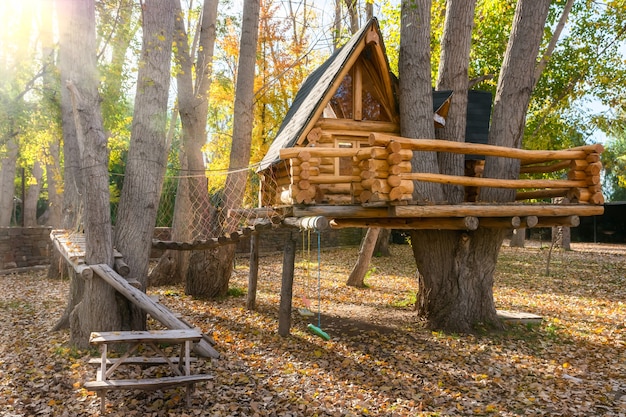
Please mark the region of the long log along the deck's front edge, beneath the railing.
[[[513, 216], [597, 216], [603, 206], [590, 204], [455, 204], [405, 205], [389, 208], [395, 217], [513, 217]], [[333, 216], [329, 216], [333, 217]], [[336, 216], [339, 217], [339, 216]], [[348, 217], [348, 216], [344, 216]]]

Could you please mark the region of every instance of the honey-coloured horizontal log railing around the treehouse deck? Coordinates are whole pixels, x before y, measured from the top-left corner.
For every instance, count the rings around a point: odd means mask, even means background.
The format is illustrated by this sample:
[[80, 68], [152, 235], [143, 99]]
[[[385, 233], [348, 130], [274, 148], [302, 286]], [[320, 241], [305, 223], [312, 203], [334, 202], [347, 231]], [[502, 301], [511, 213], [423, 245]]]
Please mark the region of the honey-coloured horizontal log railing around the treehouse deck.
[[[498, 179], [452, 176], [411, 171], [413, 151], [451, 152], [517, 159], [520, 174], [566, 171], [567, 179]], [[603, 204], [600, 189], [600, 144], [565, 150], [526, 150], [502, 146], [435, 139], [408, 139], [371, 133], [369, 147], [305, 147], [283, 149], [280, 156], [290, 161], [290, 183], [283, 201], [312, 204], [323, 188], [345, 185], [351, 203], [400, 202], [412, 200], [414, 181], [455, 184], [465, 187], [493, 187], [518, 190], [516, 200], [566, 197], [572, 203]], [[352, 175], [334, 175], [333, 158], [351, 158]]]

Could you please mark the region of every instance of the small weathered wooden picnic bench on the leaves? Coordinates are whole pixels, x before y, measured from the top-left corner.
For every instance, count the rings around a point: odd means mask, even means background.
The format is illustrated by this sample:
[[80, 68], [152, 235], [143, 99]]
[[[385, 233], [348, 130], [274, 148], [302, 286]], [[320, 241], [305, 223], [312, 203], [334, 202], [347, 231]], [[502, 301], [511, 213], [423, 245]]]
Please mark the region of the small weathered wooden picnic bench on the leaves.
[[[191, 406], [191, 390], [194, 387], [194, 383], [213, 379], [212, 375], [191, 374], [191, 362], [195, 359], [190, 357], [191, 344], [198, 342], [200, 339], [202, 339], [202, 334], [193, 329], [93, 332], [89, 342], [100, 346], [101, 357], [99, 360], [91, 359], [89, 363], [99, 364], [100, 369], [98, 369], [96, 380], [86, 382], [84, 387], [98, 392], [102, 414], [106, 412], [107, 391], [116, 389], [150, 390], [186, 385], [187, 406]], [[130, 348], [120, 358], [108, 358], [109, 345], [117, 343], [130, 344]], [[159, 347], [159, 344], [180, 345], [179, 356], [170, 357]], [[150, 347], [157, 356], [131, 356], [142, 345]], [[174, 375], [162, 378], [111, 379], [114, 371], [124, 364], [169, 365]]]

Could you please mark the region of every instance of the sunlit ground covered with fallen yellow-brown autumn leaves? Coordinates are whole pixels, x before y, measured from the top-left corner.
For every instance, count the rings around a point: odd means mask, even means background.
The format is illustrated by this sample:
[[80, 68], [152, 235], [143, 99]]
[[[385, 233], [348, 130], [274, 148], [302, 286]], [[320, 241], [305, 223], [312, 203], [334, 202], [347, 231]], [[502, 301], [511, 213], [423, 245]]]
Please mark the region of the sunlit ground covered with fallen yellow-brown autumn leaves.
[[[161, 302], [212, 333], [219, 360], [196, 368], [215, 379], [184, 391], [118, 391], [111, 416], [625, 416], [626, 247], [504, 247], [496, 277], [498, 308], [543, 316], [497, 334], [431, 332], [415, 317], [415, 267], [407, 246], [375, 258], [368, 288], [344, 285], [357, 249], [323, 250], [321, 328], [309, 333], [294, 312], [290, 337], [277, 335], [282, 256], [262, 256], [257, 310], [245, 297], [193, 300], [179, 287], [152, 289]], [[317, 256], [298, 254], [294, 308], [302, 295], [317, 312]], [[238, 258], [232, 293], [247, 287]], [[51, 333], [67, 281], [45, 271], [0, 276], [0, 415], [96, 416], [99, 399], [83, 388], [97, 351], [68, 347]], [[317, 316], [312, 321], [317, 324]], [[156, 324], [150, 322], [151, 326]], [[130, 367], [130, 376], [139, 372]], [[148, 372], [159, 372], [152, 370]]]

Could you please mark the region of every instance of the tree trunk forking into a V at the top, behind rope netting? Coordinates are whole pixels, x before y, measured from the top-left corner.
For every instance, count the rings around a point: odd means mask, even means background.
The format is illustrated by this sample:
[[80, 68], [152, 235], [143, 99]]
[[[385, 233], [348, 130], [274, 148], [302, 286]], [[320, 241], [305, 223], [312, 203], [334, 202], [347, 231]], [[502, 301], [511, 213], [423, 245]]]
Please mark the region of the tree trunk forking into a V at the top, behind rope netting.
[[[177, 16], [182, 15], [180, 2], [175, 1]], [[182, 124], [181, 178], [178, 180], [172, 239], [191, 241], [206, 239], [210, 227], [201, 230], [201, 225], [210, 224], [216, 217], [211, 206], [205, 177], [202, 146], [206, 141], [209, 89], [211, 85], [213, 51], [216, 37], [217, 0], [206, 0], [199, 22], [196, 66], [194, 70], [193, 49], [189, 46], [187, 31], [182, 19], [174, 22], [176, 61], [181, 70], [176, 74], [178, 108]], [[194, 81], [193, 74], [197, 74]], [[195, 230], [195, 232], [194, 232]], [[166, 251], [152, 271], [150, 282], [164, 285], [187, 279], [191, 254]]]

